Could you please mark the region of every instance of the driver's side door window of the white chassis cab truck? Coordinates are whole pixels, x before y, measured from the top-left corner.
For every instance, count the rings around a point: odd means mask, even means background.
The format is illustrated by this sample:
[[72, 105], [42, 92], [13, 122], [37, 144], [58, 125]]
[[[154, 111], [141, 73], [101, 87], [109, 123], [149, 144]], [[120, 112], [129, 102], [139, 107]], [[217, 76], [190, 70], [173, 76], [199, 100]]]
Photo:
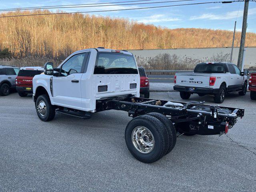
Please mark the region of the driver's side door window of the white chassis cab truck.
[[86, 53], [76, 54], [69, 58], [61, 67], [61, 76], [68, 76], [72, 73], [80, 73]]

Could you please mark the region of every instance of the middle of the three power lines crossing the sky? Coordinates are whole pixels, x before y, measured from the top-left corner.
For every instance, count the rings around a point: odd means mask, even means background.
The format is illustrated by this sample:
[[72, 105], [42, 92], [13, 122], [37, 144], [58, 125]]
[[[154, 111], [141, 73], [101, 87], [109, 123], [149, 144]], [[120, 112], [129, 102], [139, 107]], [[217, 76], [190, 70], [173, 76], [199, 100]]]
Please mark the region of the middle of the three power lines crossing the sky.
[[[172, 1], [160, 1], [160, 2], [147, 2], [147, 3], [131, 3], [131, 4], [118, 4], [118, 5], [92, 5], [92, 6], [65, 6], [65, 7], [49, 7], [47, 9], [56, 9], [56, 8], [86, 8], [86, 7], [104, 7], [104, 6], [122, 6], [122, 5], [140, 5], [140, 4], [155, 4], [155, 3], [170, 3], [170, 2], [182, 2], [182, 1], [195, 1], [195, 0], [172, 0]], [[13, 9], [13, 10], [34, 10], [42, 8], [22, 8], [22, 9]], [[44, 8], [45, 9], [45, 8]], [[0, 10], [1, 11], [13, 11], [13, 10]]]

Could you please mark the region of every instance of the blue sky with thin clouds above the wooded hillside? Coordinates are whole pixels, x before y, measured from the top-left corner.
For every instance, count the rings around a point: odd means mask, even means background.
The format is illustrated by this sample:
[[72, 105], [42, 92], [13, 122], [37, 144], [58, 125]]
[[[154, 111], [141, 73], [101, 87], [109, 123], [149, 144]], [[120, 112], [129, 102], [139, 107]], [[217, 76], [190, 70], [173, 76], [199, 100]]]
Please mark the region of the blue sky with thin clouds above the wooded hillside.
[[[22, 8], [30, 6], [54, 6], [68, 4], [86, 4], [86, 3], [102, 3], [102, 2], [122, 2], [128, 0], [0, 0], [0, 9], [4, 8]], [[152, 0], [149, 2], [160, 2], [168, 0]], [[187, 2], [172, 2], [161, 4], [144, 4], [144, 5], [128, 5], [128, 6], [110, 6], [110, 7], [94, 7], [94, 8], [65, 8], [61, 9], [66, 12], [76, 11], [92, 11], [92, 10], [112, 10], [124, 8], [139, 8], [150, 6], [163, 6], [175, 4], [188, 4], [197, 2], [213, 2], [215, 0], [192, 0]], [[139, 2], [134, 2], [139, 3]], [[240, 6], [240, 8], [239, 8]], [[239, 9], [239, 11], [238, 11]], [[237, 30], [242, 28], [242, 16], [244, 10], [244, 2], [233, 2], [230, 4], [203, 4], [177, 6], [168, 8], [154, 8], [146, 10], [126, 10], [116, 12], [98, 12], [95, 15], [128, 18], [137, 22], [146, 24], [154, 24], [156, 26], [164, 26], [167, 28], [207, 28], [207, 29], [223, 29], [233, 30], [234, 21], [237, 17]], [[52, 11], [56, 11], [52, 9]], [[250, 2], [248, 12], [248, 32], [256, 32], [256, 2]]]

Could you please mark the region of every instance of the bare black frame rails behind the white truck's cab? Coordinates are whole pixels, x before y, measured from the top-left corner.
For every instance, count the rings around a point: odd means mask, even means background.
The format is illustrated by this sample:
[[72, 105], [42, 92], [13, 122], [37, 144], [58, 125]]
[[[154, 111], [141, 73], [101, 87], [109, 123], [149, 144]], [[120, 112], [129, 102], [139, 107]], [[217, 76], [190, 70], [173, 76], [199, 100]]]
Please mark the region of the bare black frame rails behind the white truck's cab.
[[[171, 103], [171, 105], [168, 105]], [[127, 111], [130, 117], [157, 112], [168, 117], [176, 130], [189, 134], [222, 135], [244, 116], [244, 109], [210, 106], [202, 102], [170, 102], [146, 98], [126, 97], [97, 100], [96, 110]]]

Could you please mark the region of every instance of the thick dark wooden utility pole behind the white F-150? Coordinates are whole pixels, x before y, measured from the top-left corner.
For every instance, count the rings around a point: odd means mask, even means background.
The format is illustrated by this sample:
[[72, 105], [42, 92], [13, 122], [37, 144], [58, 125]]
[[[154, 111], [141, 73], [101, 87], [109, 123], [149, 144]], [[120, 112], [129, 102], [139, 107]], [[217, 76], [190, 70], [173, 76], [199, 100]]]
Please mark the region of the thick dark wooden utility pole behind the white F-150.
[[241, 41], [240, 41], [240, 48], [239, 48], [238, 61], [237, 61], [237, 66], [240, 70], [242, 69], [242, 61], [244, 56], [244, 44], [245, 44], [246, 27], [247, 27], [248, 7], [249, 7], [249, 0], [244, 0], [243, 25], [242, 25]]

